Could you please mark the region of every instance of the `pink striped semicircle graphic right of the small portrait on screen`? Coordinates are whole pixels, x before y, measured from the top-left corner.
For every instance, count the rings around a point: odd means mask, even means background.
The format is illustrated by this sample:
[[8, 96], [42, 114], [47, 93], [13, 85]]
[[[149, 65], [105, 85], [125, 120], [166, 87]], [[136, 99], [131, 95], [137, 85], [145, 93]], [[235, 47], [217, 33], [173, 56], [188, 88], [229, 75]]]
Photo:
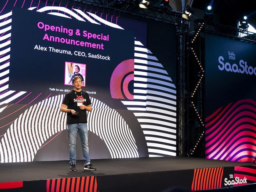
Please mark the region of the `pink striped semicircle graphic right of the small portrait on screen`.
[[133, 100], [128, 84], [134, 79], [134, 60], [128, 59], [119, 63], [110, 78], [110, 94], [113, 99]]

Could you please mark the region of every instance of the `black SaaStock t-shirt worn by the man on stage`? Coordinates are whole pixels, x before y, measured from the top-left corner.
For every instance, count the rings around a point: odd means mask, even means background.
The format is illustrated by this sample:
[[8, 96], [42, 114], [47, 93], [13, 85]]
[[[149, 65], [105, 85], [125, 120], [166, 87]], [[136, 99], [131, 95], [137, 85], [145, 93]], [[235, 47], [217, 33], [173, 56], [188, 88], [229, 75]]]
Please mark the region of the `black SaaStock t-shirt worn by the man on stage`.
[[75, 92], [74, 90], [69, 91], [62, 103], [64, 105], [67, 105], [68, 109], [74, 109], [77, 112], [79, 112], [78, 115], [72, 115], [71, 112], [67, 113], [67, 124], [75, 124], [75, 123], [87, 123], [87, 114], [86, 110], [81, 110], [79, 106], [77, 106], [77, 99], [81, 99], [83, 101], [83, 105], [91, 105], [91, 100], [87, 92], [81, 91], [81, 92]]

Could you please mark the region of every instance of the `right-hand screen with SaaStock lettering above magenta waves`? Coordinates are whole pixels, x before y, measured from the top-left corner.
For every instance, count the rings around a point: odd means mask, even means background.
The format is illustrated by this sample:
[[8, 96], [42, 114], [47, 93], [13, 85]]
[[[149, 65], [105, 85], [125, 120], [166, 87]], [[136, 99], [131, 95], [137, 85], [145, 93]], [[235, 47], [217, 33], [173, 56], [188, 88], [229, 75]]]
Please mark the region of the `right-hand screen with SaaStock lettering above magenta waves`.
[[256, 155], [256, 45], [207, 34], [205, 156], [252, 162]]

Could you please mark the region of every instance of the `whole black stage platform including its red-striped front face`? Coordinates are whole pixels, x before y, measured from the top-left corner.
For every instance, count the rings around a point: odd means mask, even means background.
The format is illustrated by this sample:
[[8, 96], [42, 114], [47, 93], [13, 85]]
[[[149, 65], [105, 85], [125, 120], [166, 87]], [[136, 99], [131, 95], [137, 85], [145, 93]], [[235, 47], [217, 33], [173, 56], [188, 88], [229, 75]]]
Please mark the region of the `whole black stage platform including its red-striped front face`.
[[91, 163], [96, 171], [84, 170], [81, 160], [76, 163], [76, 172], [69, 171], [68, 161], [2, 163], [0, 191], [161, 192], [173, 186], [196, 191], [226, 187], [224, 178], [233, 185], [236, 175], [240, 175], [240, 179], [247, 176], [246, 184], [256, 182], [249, 179], [255, 177], [256, 180], [253, 163], [180, 156], [99, 159]]

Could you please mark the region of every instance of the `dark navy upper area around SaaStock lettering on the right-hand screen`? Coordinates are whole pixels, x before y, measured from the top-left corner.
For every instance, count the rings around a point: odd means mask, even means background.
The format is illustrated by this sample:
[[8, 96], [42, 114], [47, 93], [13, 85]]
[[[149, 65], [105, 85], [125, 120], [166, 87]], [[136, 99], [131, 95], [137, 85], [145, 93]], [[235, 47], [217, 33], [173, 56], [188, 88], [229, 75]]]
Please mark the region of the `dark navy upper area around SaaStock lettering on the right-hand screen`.
[[[256, 76], [230, 71], [219, 70], [219, 56], [223, 62], [235, 63], [238, 68], [240, 60], [247, 62], [248, 67], [256, 67], [256, 44], [239, 41], [231, 38], [205, 36], [205, 115], [211, 115], [214, 111], [230, 102], [242, 99], [255, 99]], [[229, 58], [228, 51], [235, 54], [235, 60]], [[241, 68], [242, 69], [242, 68]]]

